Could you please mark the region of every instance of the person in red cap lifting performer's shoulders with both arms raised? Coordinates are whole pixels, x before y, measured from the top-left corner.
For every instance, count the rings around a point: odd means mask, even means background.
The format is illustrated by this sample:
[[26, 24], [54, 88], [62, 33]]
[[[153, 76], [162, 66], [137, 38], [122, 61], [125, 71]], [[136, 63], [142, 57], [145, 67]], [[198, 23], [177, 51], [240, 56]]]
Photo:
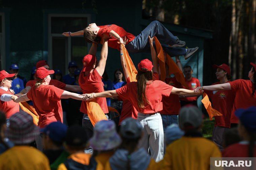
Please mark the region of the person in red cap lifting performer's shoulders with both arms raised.
[[[79, 85], [83, 94], [92, 92], [104, 92], [104, 84], [102, 83], [102, 75], [105, 70], [107, 60], [107, 40], [104, 39], [102, 45], [100, 60], [96, 66], [97, 44], [92, 44], [89, 54], [83, 58], [83, 69], [79, 75]], [[96, 99], [103, 112], [108, 113], [106, 98]], [[84, 113], [82, 126], [85, 128], [88, 137], [93, 135], [93, 125], [87, 114], [86, 101], [82, 101], [80, 111]]]

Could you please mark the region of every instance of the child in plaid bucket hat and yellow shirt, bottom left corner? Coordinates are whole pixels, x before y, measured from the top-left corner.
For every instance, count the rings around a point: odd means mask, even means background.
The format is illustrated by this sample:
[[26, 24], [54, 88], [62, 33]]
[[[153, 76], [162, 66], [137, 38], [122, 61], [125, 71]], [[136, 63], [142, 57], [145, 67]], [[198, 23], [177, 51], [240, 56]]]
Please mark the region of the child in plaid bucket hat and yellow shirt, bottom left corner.
[[29, 146], [39, 135], [33, 117], [26, 112], [18, 112], [10, 117], [6, 129], [8, 137], [15, 146], [0, 155], [0, 169], [50, 170], [49, 160], [40, 151]]

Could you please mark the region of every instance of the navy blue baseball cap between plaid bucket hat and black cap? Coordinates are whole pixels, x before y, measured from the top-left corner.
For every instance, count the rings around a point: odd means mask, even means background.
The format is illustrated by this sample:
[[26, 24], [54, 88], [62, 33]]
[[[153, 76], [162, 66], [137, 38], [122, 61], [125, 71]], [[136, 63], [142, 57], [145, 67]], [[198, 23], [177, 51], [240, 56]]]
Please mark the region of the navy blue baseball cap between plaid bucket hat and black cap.
[[40, 129], [40, 132], [49, 136], [53, 141], [62, 143], [65, 140], [67, 129], [67, 126], [61, 122], [52, 122], [45, 128]]

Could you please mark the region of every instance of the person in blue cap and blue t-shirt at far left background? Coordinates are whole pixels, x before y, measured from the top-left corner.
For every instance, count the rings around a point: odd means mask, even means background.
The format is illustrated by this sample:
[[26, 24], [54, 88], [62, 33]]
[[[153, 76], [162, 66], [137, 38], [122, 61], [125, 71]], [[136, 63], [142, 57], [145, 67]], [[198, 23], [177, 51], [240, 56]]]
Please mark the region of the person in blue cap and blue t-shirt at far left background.
[[10, 89], [13, 90], [15, 94], [18, 94], [24, 89], [24, 81], [21, 78], [18, 78], [19, 66], [17, 64], [12, 64], [10, 66], [10, 73], [15, 74]]

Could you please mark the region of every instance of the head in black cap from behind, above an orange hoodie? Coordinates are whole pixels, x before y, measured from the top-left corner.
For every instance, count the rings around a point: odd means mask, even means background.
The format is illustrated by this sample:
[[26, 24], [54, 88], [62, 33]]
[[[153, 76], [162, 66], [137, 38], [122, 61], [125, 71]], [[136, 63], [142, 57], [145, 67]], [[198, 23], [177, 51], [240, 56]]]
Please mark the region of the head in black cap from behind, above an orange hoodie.
[[72, 154], [84, 151], [87, 146], [87, 134], [83, 127], [73, 125], [68, 128], [66, 133], [66, 149]]

